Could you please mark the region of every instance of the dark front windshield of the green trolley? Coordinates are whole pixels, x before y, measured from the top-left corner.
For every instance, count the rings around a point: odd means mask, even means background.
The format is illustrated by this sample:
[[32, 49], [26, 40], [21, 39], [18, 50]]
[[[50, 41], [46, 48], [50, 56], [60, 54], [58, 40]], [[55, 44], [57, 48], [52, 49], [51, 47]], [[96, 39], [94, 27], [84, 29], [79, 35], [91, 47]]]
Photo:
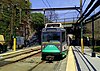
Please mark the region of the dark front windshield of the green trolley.
[[60, 42], [60, 32], [43, 32], [42, 42]]

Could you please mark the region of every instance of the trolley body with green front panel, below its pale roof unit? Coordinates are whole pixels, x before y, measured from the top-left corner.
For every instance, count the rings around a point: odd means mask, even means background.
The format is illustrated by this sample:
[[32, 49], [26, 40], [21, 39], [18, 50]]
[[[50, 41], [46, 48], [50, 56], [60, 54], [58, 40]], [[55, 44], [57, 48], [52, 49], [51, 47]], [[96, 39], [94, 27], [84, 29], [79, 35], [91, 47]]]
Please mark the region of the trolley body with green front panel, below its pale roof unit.
[[66, 30], [43, 28], [41, 35], [42, 60], [56, 60], [66, 56]]

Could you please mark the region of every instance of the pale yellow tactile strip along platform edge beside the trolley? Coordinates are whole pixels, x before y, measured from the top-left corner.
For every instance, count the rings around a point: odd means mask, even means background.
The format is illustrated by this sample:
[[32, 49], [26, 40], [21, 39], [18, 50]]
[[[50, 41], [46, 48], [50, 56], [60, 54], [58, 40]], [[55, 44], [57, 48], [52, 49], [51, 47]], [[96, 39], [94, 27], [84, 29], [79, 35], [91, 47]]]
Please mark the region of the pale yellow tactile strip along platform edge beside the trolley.
[[69, 47], [66, 71], [76, 71], [76, 62], [72, 51], [72, 47], [73, 46]]

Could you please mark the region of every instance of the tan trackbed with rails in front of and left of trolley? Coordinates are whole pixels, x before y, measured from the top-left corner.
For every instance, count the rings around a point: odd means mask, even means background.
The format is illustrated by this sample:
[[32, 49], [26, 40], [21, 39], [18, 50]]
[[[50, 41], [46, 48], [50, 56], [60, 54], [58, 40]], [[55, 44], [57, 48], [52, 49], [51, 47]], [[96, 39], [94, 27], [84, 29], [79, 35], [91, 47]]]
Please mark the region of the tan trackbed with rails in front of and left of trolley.
[[60, 67], [61, 69], [65, 69], [63, 65], [66, 65], [66, 59], [64, 62], [42, 61], [40, 50], [30, 49], [29, 51], [1, 60], [0, 71], [14, 71], [15, 69], [16, 71], [60, 71]]

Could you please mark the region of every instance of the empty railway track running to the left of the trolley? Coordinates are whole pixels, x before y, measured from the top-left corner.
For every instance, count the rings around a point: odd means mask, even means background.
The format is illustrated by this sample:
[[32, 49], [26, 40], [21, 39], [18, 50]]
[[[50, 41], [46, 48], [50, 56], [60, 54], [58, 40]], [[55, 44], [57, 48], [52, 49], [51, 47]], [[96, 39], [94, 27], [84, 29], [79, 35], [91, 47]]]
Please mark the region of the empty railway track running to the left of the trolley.
[[35, 49], [35, 50], [30, 49], [28, 51], [5, 56], [0, 59], [0, 67], [27, 59], [27, 58], [34, 56], [35, 54], [38, 54], [40, 52], [41, 52], [40, 49]]

